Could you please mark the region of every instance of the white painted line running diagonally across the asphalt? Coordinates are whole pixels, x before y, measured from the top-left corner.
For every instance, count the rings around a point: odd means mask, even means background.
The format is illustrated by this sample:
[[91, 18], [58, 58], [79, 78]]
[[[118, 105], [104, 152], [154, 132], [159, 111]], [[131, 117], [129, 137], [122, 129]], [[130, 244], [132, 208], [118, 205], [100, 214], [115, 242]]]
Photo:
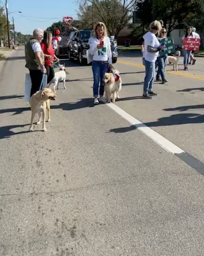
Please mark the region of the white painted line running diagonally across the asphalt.
[[126, 119], [128, 122], [130, 122], [131, 125], [134, 125], [138, 130], [142, 131], [144, 134], [146, 134], [150, 139], [152, 139], [154, 142], [159, 144], [162, 148], [164, 148], [166, 151], [169, 151], [173, 154], [181, 154], [184, 153], [184, 151], [174, 145], [172, 142], [158, 134], [156, 131], [153, 131], [151, 128], [149, 128], [147, 125], [144, 125], [142, 122], [140, 122], [138, 119], [134, 118], [122, 108], [119, 108], [117, 105], [113, 103], [107, 104], [109, 108], [113, 109], [116, 113], [118, 113], [120, 116], [122, 116], [124, 119]]

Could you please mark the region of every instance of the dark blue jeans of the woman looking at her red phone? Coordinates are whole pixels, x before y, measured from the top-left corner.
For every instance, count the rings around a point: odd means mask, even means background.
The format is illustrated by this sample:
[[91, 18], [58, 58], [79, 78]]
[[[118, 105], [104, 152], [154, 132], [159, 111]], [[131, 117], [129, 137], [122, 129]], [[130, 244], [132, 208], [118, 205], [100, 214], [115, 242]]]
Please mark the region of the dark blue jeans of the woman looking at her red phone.
[[[108, 71], [108, 61], [92, 61], [92, 71], [94, 75], [94, 86], [93, 92], [94, 96], [103, 96], [104, 93], [104, 85], [103, 85], [103, 77], [104, 74]], [[100, 83], [100, 89], [99, 89]]]

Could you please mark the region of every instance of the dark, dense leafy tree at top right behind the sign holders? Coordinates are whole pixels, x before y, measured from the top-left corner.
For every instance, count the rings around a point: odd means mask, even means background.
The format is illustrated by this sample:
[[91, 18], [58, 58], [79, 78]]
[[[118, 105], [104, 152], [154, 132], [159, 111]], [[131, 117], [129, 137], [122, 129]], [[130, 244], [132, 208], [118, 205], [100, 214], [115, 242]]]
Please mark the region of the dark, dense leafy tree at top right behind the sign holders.
[[201, 0], [138, 0], [136, 10], [145, 26], [153, 20], [163, 20], [168, 34], [177, 25], [202, 17]]

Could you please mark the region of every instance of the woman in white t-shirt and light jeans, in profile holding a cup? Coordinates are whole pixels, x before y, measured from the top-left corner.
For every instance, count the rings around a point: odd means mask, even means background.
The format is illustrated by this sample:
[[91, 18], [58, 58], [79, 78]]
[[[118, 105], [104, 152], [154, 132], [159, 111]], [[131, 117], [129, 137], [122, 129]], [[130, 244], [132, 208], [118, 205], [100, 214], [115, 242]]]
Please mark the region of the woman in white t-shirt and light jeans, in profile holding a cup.
[[158, 20], [155, 20], [150, 24], [150, 31], [143, 36], [145, 78], [142, 97], [144, 99], [152, 99], [152, 96], [157, 95], [157, 93], [153, 92], [155, 62], [159, 51], [165, 49], [165, 45], [161, 46], [156, 38], [156, 33], [158, 33], [160, 30], [161, 23]]

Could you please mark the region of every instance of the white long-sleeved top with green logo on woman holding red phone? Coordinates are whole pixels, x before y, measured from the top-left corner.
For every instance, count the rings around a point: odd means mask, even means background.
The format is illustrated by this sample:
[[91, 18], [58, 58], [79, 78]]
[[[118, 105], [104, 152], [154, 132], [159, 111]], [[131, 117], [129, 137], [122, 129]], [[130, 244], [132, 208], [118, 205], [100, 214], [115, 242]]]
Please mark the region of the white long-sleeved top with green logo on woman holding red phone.
[[97, 49], [97, 45], [100, 44], [99, 39], [93, 37], [89, 38], [89, 52], [93, 55], [94, 61], [109, 61], [109, 63], [112, 64], [111, 41], [109, 37], [103, 38], [103, 42], [104, 45], [102, 49]]

